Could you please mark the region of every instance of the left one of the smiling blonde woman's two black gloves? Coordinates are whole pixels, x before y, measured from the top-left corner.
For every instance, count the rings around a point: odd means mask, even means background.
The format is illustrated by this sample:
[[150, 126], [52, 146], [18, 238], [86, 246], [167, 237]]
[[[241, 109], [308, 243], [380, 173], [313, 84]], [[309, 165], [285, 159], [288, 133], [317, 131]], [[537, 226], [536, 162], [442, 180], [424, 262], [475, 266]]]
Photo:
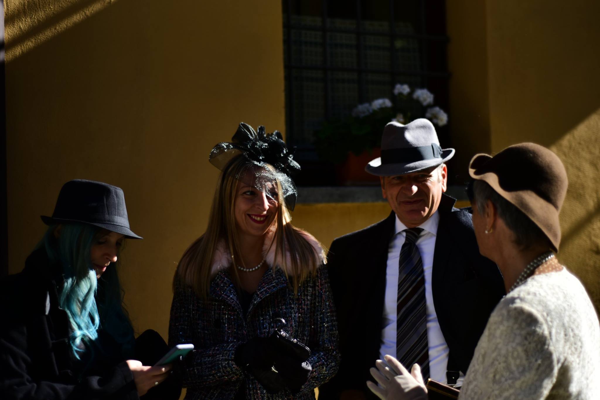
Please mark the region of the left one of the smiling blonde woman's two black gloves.
[[252, 338], [235, 349], [233, 361], [250, 373], [271, 395], [284, 389], [286, 384], [273, 369], [274, 348], [268, 338]]

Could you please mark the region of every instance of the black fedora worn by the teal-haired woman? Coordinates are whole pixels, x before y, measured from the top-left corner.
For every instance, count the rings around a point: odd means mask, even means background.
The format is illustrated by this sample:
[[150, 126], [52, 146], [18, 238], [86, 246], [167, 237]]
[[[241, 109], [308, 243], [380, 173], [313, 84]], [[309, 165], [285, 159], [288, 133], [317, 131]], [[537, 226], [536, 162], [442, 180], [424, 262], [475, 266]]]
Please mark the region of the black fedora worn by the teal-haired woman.
[[142, 239], [129, 228], [125, 194], [103, 182], [74, 179], [62, 185], [52, 216], [41, 216], [46, 225], [83, 222], [130, 239]]

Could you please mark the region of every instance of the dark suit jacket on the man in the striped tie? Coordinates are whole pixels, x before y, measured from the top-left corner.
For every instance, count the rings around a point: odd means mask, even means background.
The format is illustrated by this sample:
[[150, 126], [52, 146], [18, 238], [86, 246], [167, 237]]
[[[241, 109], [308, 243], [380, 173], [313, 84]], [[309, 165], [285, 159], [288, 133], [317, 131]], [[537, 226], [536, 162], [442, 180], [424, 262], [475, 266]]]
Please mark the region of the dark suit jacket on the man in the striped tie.
[[[488, 317], [505, 294], [496, 264], [482, 257], [470, 209], [457, 209], [443, 195], [438, 211], [431, 291], [452, 360], [467, 372]], [[319, 389], [319, 399], [343, 390], [368, 392], [369, 368], [379, 358], [386, 266], [395, 214], [370, 227], [338, 237], [328, 254], [329, 276], [340, 332], [340, 371]]]

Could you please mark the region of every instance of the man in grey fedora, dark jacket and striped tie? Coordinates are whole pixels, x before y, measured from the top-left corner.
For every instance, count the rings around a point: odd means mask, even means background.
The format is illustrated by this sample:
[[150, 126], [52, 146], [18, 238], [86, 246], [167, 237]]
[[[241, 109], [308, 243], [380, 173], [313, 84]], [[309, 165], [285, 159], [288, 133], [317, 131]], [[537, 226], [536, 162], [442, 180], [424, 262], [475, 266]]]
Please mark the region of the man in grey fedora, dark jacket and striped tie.
[[488, 317], [504, 294], [495, 264], [479, 254], [470, 209], [446, 196], [446, 161], [427, 119], [390, 122], [380, 177], [388, 218], [338, 237], [328, 254], [341, 364], [319, 399], [373, 396], [365, 382], [385, 354], [425, 379], [460, 386]]

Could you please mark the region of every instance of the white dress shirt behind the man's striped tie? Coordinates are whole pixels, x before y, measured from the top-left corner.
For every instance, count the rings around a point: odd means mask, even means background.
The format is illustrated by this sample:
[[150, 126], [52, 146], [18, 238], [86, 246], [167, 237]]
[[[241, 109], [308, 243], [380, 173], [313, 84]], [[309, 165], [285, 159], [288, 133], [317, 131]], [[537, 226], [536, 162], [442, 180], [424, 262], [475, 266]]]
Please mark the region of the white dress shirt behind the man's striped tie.
[[[425, 302], [427, 306], [427, 341], [429, 345], [429, 369], [433, 380], [446, 383], [446, 366], [448, 365], [448, 345], [442, 329], [437, 321], [436, 309], [433, 306], [433, 295], [431, 294], [431, 272], [433, 270], [433, 251], [436, 247], [437, 225], [440, 215], [436, 211], [427, 221], [419, 225], [423, 231], [416, 240], [416, 246], [421, 253], [423, 271], [425, 273]], [[406, 225], [400, 222], [396, 216], [395, 234], [388, 246], [388, 267], [385, 279], [385, 305], [383, 307], [383, 330], [382, 344], [379, 350], [380, 359], [385, 354], [396, 354], [396, 316], [398, 302], [398, 262], [400, 261], [400, 249], [406, 239]], [[412, 365], [405, 365], [410, 370]], [[457, 386], [463, 383], [463, 374], [460, 374]]]

